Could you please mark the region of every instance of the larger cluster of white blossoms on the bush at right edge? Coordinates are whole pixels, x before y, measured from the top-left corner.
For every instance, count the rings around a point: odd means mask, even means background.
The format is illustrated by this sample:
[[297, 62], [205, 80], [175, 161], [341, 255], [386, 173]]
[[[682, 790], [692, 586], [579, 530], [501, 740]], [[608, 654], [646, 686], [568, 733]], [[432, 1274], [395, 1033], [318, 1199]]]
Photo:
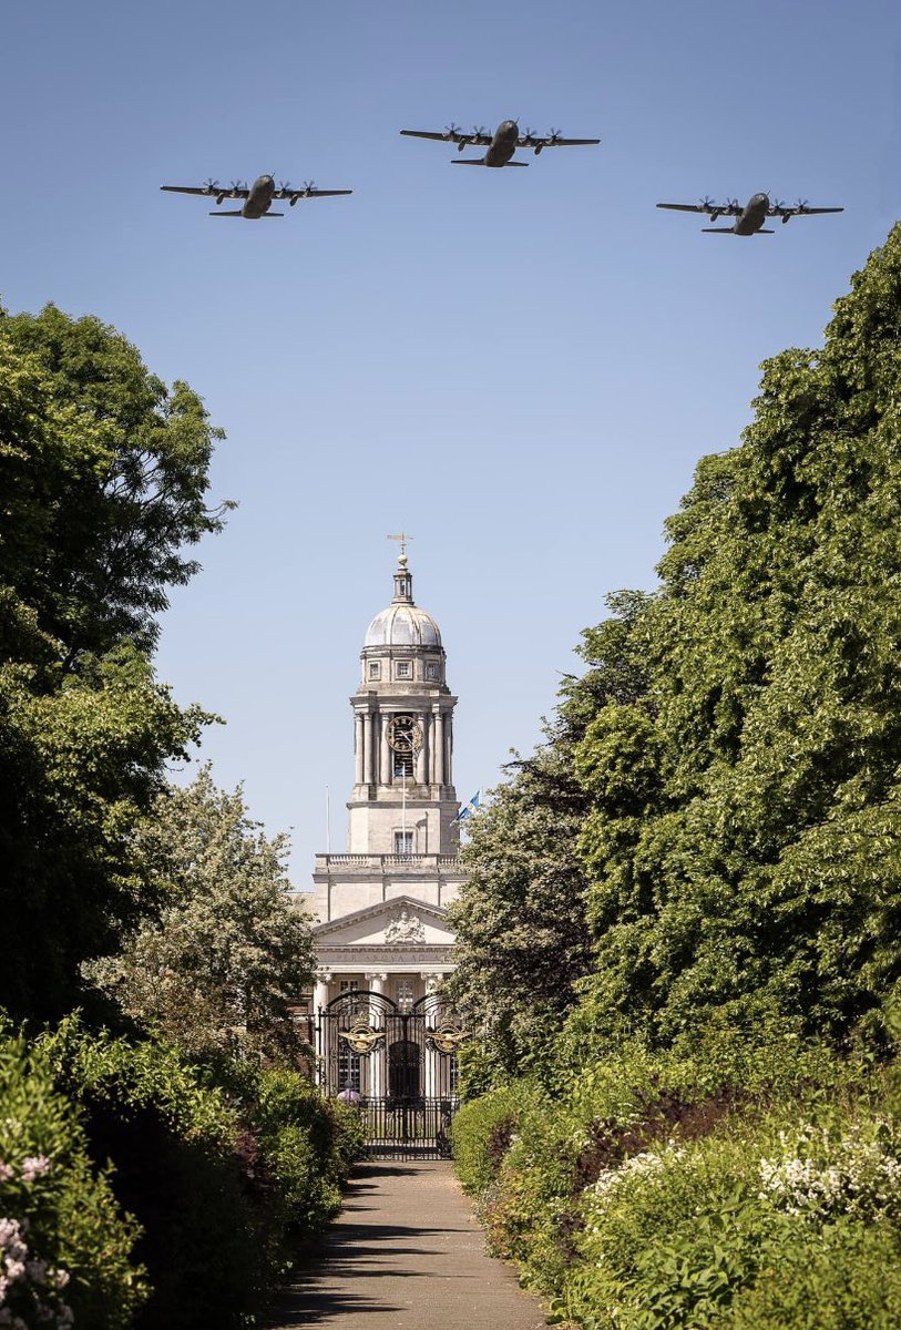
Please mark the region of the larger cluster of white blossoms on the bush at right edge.
[[780, 1154], [760, 1161], [760, 1198], [819, 1222], [840, 1214], [901, 1218], [901, 1160], [888, 1123], [780, 1132]]

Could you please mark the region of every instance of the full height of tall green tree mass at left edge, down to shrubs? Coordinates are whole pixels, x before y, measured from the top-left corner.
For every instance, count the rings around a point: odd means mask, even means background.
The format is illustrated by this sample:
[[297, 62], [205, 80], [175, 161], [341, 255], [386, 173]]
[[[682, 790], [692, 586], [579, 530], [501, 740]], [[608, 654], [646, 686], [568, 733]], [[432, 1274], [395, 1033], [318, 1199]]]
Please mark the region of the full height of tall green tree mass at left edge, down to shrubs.
[[0, 314], [0, 1004], [53, 1016], [140, 910], [134, 823], [209, 717], [148, 650], [217, 531], [199, 399], [97, 319]]

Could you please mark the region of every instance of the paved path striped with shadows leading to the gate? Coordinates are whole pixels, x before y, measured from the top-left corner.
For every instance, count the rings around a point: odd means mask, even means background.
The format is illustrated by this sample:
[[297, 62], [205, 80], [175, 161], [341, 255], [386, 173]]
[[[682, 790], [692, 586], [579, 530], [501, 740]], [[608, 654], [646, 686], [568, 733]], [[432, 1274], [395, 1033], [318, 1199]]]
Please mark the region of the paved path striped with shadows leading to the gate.
[[540, 1330], [544, 1311], [482, 1230], [445, 1162], [361, 1164], [274, 1326]]

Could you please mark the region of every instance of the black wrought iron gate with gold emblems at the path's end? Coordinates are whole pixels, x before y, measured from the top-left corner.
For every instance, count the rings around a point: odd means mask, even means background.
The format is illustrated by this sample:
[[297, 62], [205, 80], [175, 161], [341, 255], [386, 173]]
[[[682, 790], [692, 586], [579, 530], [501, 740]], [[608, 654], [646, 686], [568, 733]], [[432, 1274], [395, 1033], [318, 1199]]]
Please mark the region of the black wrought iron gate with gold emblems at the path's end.
[[373, 1158], [447, 1158], [457, 1108], [460, 1023], [429, 995], [408, 1009], [355, 990], [314, 1016], [319, 1077], [359, 1107]]

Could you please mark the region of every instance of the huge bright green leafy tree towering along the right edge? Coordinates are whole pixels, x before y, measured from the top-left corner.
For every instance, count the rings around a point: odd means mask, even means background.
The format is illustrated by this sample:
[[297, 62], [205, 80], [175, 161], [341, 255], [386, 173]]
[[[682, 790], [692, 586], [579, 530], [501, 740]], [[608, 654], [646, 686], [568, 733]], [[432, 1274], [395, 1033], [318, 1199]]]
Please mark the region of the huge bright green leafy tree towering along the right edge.
[[896, 227], [668, 523], [647, 692], [577, 753], [582, 1036], [775, 1015], [841, 1037], [901, 974], [900, 344]]

